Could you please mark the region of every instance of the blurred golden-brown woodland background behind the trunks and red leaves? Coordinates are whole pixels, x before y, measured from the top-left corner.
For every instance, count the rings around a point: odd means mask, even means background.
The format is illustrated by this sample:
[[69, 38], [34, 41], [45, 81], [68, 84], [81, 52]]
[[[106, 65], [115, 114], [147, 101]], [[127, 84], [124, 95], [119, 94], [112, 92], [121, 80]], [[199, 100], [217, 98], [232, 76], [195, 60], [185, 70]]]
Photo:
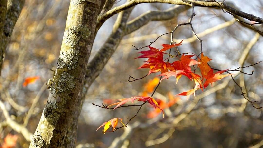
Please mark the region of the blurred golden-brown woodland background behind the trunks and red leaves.
[[[227, 0], [241, 11], [263, 17], [261, 0]], [[69, 0], [26, 0], [21, 15], [16, 23], [11, 41], [5, 53], [2, 75], [0, 79], [1, 100], [11, 118], [24, 124], [29, 132], [34, 133], [41, 117], [49, 90], [45, 83], [52, 78], [57, 67], [60, 46], [65, 29]], [[118, 6], [124, 0], [114, 4]], [[151, 3], [139, 4], [130, 14], [129, 20], [149, 10], [166, 10], [171, 4]], [[203, 40], [205, 56], [213, 59], [210, 66], [220, 70], [235, 69], [240, 66], [241, 57], [245, 57], [244, 66], [263, 60], [263, 38], [255, 31], [242, 26], [228, 13], [221, 9], [195, 7], [196, 16], [192, 24], [196, 33]], [[123, 140], [120, 147], [261, 147], [263, 145], [263, 113], [262, 108], [254, 108], [240, 94], [240, 88], [230, 77], [226, 77], [209, 86], [204, 93], [196, 92], [196, 97], [177, 97], [176, 94], [192, 89], [193, 82], [182, 77], [177, 85], [175, 78], [163, 80], [155, 98], [159, 102], [169, 102], [165, 108], [165, 117], [154, 113], [154, 108], [145, 105], [128, 125], [115, 132], [102, 134], [96, 129], [108, 120], [119, 117], [124, 122], [136, 114], [138, 107], [125, 107], [116, 110], [105, 110], [92, 105], [95, 103], [114, 103], [111, 99], [121, 99], [142, 94], [151, 94], [156, 86], [155, 74], [141, 80], [127, 81], [130, 76], [140, 78], [149, 69], [140, 69], [145, 59], [134, 59], [139, 56], [133, 46], [149, 45], [159, 35], [170, 32], [179, 24], [189, 21], [192, 11], [188, 9], [168, 21], [151, 21], [135, 32], [125, 36], [117, 51], [110, 58], [104, 70], [90, 87], [82, 112], [79, 117], [77, 147], [109, 147]], [[100, 28], [93, 44], [90, 60], [99, 50], [110, 34], [117, 18], [114, 15]], [[251, 22], [253, 23], [253, 22]], [[224, 24], [225, 26], [218, 25]], [[262, 25], [255, 25], [261, 27]], [[217, 29], [213, 29], [213, 27]], [[220, 28], [220, 29], [218, 29]], [[210, 29], [210, 30], [209, 30]], [[199, 54], [200, 42], [193, 37], [190, 26], [181, 26], [174, 33], [174, 39], [184, 39], [179, 47], [181, 53]], [[252, 40], [253, 39], [253, 40]], [[255, 41], [256, 40], [256, 41]], [[254, 41], [254, 42], [253, 42]], [[169, 44], [170, 35], [159, 38], [153, 47], [161, 48], [161, 44]], [[248, 47], [248, 45], [251, 45]], [[143, 49], [148, 50], [148, 49]], [[178, 60], [174, 58], [174, 60]], [[172, 62], [172, 61], [171, 61]], [[242, 62], [242, 61], [241, 61]], [[242, 71], [253, 75], [237, 72], [235, 80], [247, 92], [250, 100], [259, 101], [255, 105], [262, 106], [263, 96], [263, 64], [244, 68]], [[34, 83], [23, 86], [26, 78], [36, 77]], [[37, 102], [34, 100], [39, 98]], [[261, 103], [260, 103], [261, 102]], [[28, 111], [33, 107], [31, 118]], [[5, 123], [0, 110], [0, 143], [8, 133], [17, 135], [15, 147], [28, 147], [29, 142], [13, 131]], [[24, 123], [24, 121], [27, 121]], [[110, 129], [109, 129], [110, 130]], [[123, 138], [123, 139], [122, 139]]]

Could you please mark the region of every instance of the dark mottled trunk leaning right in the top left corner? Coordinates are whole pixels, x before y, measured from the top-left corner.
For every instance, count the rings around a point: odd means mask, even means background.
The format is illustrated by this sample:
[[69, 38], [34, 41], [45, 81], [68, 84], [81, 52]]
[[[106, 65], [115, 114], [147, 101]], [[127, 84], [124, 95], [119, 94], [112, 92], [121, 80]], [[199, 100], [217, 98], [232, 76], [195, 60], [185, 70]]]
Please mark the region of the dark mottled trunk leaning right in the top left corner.
[[[1, 70], [3, 65], [4, 52], [6, 51], [7, 44], [10, 40], [14, 26], [22, 11], [24, 3], [25, 3], [24, 0], [8, 0], [6, 5], [6, 0], [0, 0], [0, 7], [4, 5], [6, 7], [5, 17], [0, 18], [0, 28], [1, 25], [3, 25], [4, 23], [3, 32], [0, 29], [0, 34], [2, 34], [2, 38], [0, 37], [0, 76], [1, 76]], [[3, 10], [0, 11], [1, 11], [0, 13], [2, 13]], [[0, 15], [2, 16], [2, 14]], [[3, 21], [3, 19], [5, 20]]]

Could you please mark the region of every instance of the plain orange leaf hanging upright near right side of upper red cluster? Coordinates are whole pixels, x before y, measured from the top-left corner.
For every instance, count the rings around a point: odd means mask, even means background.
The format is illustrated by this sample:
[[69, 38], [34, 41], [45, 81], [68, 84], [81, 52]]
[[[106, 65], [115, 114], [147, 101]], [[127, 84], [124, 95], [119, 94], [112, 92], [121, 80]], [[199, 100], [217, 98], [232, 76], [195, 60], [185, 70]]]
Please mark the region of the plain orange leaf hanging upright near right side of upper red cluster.
[[198, 62], [200, 62], [200, 64], [198, 64], [197, 67], [200, 68], [203, 80], [204, 80], [204, 78], [207, 78], [206, 75], [211, 70], [211, 67], [208, 65], [208, 62], [211, 60], [212, 59], [210, 59], [208, 56], [204, 56], [204, 54], [201, 53], [201, 58], [199, 58], [199, 60], [198, 60]]

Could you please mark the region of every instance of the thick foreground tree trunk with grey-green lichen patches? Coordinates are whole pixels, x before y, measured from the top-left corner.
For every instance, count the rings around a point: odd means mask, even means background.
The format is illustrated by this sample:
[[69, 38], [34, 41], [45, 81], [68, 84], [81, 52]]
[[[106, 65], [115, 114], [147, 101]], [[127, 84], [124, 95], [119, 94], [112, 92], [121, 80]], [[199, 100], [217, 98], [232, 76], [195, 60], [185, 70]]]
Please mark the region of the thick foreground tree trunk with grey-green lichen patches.
[[72, 0], [58, 67], [30, 147], [62, 147], [82, 90], [100, 0]]

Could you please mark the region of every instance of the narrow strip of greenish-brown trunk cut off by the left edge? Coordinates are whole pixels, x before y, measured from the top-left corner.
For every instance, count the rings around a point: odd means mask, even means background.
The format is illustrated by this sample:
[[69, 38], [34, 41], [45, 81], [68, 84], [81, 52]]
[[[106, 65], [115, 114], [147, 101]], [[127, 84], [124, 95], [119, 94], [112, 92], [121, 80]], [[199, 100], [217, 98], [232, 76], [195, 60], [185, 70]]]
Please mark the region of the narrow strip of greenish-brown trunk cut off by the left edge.
[[[7, 8], [7, 0], [0, 0], [0, 46], [2, 43], [2, 36], [4, 32], [4, 21], [6, 19], [6, 8]], [[0, 76], [1, 76], [1, 70], [2, 70], [2, 61], [4, 58], [4, 51], [0, 50]]]

